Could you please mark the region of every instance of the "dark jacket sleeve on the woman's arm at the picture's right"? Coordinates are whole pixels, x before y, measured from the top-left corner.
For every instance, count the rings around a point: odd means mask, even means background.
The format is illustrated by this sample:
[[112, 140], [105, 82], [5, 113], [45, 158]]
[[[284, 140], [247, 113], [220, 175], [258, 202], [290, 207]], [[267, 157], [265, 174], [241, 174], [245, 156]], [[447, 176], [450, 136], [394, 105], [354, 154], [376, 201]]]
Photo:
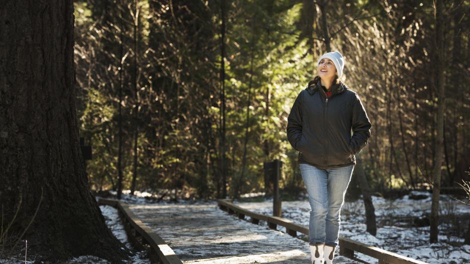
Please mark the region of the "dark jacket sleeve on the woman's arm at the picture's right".
[[351, 124], [352, 136], [349, 141], [349, 147], [352, 150], [352, 154], [357, 154], [367, 145], [367, 140], [370, 137], [370, 127], [372, 126], [357, 93], [355, 93], [352, 102]]

